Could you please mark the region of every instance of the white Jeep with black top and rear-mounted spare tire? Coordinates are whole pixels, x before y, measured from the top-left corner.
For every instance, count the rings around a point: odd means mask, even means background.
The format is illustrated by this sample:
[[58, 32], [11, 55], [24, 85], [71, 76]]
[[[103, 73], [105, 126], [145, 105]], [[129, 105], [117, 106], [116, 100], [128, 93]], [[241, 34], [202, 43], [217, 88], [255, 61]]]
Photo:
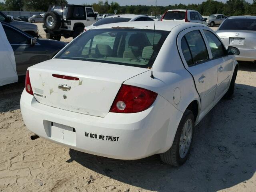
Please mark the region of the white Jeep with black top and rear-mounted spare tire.
[[96, 17], [97, 14], [91, 6], [65, 5], [64, 10], [62, 6], [49, 6], [43, 24], [46, 38], [54, 40], [60, 40], [61, 36], [76, 38], [83, 32], [84, 27], [96, 22]]

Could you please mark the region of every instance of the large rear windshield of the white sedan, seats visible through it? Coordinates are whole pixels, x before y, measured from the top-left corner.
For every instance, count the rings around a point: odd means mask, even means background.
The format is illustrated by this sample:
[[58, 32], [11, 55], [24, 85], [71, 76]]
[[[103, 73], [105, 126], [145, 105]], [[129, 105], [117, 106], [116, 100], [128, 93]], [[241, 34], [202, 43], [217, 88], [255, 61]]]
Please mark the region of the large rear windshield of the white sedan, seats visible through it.
[[55, 58], [148, 68], [153, 65], [169, 33], [142, 29], [88, 30]]

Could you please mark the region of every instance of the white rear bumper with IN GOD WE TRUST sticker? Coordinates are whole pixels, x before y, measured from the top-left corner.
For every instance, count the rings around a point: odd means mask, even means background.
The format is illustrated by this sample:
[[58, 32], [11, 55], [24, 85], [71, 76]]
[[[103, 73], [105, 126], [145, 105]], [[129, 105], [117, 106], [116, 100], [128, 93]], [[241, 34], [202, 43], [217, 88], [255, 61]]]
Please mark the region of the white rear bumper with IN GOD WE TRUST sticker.
[[[134, 114], [108, 113], [104, 118], [40, 104], [23, 91], [20, 108], [26, 127], [38, 136], [74, 150], [109, 158], [134, 160], [165, 152], [172, 145], [182, 112], [158, 95], [147, 110]], [[75, 142], [52, 137], [51, 122], [75, 128]], [[118, 136], [118, 142], [97, 140], [85, 132]], [[68, 137], [67, 135], [65, 135]]]

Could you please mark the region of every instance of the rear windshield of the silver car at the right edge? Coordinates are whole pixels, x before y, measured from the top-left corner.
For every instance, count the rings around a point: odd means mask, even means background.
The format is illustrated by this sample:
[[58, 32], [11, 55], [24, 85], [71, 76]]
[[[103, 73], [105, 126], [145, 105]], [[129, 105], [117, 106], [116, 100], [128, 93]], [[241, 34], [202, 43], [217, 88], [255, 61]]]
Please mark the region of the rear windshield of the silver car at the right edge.
[[219, 30], [256, 30], [256, 19], [226, 19]]

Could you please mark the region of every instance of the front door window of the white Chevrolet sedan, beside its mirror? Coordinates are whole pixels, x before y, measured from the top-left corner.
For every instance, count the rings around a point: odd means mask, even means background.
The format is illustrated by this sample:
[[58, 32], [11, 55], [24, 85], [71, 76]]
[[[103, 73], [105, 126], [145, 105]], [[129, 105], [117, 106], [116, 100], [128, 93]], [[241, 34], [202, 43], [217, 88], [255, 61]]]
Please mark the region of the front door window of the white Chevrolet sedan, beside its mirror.
[[226, 55], [226, 49], [220, 40], [210, 31], [204, 30], [208, 44], [212, 52], [212, 58], [223, 57]]

